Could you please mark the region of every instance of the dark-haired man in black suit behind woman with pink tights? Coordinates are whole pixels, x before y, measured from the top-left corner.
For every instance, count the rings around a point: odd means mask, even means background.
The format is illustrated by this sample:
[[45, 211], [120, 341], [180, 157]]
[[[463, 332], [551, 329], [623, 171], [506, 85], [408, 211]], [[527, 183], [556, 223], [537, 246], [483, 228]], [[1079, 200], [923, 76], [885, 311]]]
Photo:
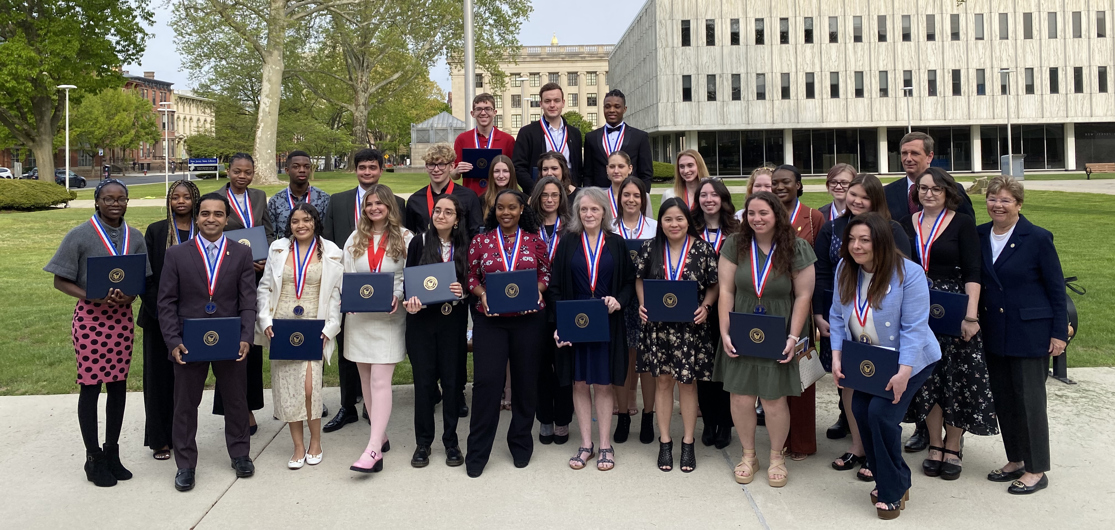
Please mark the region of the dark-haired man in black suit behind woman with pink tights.
[[[329, 197], [329, 208], [321, 220], [321, 235], [332, 241], [337, 247], [343, 248], [345, 241], [356, 231], [357, 220], [360, 219], [360, 202], [363, 201], [365, 193], [379, 183], [379, 177], [384, 174], [384, 155], [376, 150], [360, 150], [352, 156], [356, 163], [356, 180], [358, 185], [351, 190], [334, 193]], [[395, 202], [399, 205], [399, 211], [406, 209], [406, 203], [398, 195]], [[341, 333], [337, 334], [338, 372], [340, 373], [341, 407], [321, 428], [327, 433], [338, 431], [345, 425], [357, 422], [356, 401], [360, 397], [360, 373], [352, 363], [343, 355], [345, 350], [345, 321], [341, 316]], [[368, 411], [363, 411], [363, 417], [368, 417]]]

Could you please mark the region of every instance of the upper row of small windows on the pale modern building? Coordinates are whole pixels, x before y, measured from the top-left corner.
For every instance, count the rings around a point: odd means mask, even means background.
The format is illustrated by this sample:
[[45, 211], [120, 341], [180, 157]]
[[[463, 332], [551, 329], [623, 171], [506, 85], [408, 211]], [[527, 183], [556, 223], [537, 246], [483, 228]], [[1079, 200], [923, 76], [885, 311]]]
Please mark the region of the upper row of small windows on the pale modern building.
[[[1010, 13], [998, 13], [999, 21], [999, 40], [1010, 39]], [[1047, 35], [1050, 39], [1057, 38], [1057, 12], [1050, 11], [1046, 15], [1046, 27]], [[1082, 11], [1073, 11], [1073, 38], [1080, 39], [1084, 38], [1084, 13]], [[766, 19], [756, 18], [755, 20], [755, 45], [764, 46], [766, 45]], [[879, 42], [886, 42], [889, 39], [886, 16], [880, 15], [876, 17], [875, 23], [875, 39]], [[681, 46], [692, 46], [691, 37], [691, 20], [681, 21]], [[972, 16], [972, 38], [975, 40], [985, 40], [985, 21], [983, 13], [976, 13]], [[910, 42], [913, 40], [913, 17], [910, 15], [901, 16], [901, 31], [902, 41]], [[1026, 12], [1022, 13], [1022, 38], [1032, 39], [1034, 38], [1034, 13]], [[728, 21], [728, 44], [730, 46], [739, 46], [740, 42], [740, 30], [739, 30], [739, 19], [730, 19]], [[935, 41], [937, 40], [937, 16], [925, 15], [925, 40]], [[864, 21], [863, 17], [852, 17], [852, 42], [863, 42], [864, 32]], [[1107, 37], [1107, 13], [1106, 11], [1096, 11], [1096, 38], [1103, 39]], [[960, 40], [960, 15], [952, 13], [949, 15], [949, 40]], [[803, 20], [803, 41], [804, 44], [814, 42], [814, 19], [813, 17], [805, 17]], [[840, 42], [840, 17], [828, 17], [828, 42], [837, 44]], [[778, 19], [778, 44], [788, 45], [791, 44], [789, 37], [789, 18]], [[705, 20], [705, 46], [716, 46], [716, 19]], [[551, 74], [551, 78], [556, 74]], [[574, 74], [571, 74], [574, 75]], [[477, 81], [478, 83], [478, 81]], [[556, 83], [556, 81], [553, 81]], [[572, 85], [573, 83], [570, 81]], [[477, 85], [479, 86], [479, 85]], [[534, 85], [532, 85], [534, 86]]]

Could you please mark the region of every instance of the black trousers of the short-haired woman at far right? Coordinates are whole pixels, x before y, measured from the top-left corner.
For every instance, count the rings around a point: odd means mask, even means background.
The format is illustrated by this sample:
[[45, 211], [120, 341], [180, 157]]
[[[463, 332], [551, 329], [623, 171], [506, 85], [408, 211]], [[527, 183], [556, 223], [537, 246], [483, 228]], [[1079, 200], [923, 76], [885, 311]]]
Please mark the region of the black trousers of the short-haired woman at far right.
[[987, 355], [986, 358], [1007, 460], [1025, 462], [1029, 473], [1049, 471], [1045, 387], [1049, 357]]

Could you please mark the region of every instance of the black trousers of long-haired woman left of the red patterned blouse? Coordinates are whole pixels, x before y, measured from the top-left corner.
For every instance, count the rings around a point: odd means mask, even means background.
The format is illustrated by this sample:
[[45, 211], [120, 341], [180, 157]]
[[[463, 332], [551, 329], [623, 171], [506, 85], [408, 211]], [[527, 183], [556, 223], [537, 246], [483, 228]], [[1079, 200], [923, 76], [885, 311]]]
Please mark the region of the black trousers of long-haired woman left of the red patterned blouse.
[[407, 315], [407, 355], [415, 380], [415, 442], [434, 443], [434, 403], [437, 401], [437, 382], [447, 389], [442, 404], [442, 443], [454, 447], [457, 442], [457, 421], [460, 409], [458, 369], [468, 348], [468, 309], [464, 303], [448, 306], [449, 315], [442, 312], [446, 306], [428, 307]]

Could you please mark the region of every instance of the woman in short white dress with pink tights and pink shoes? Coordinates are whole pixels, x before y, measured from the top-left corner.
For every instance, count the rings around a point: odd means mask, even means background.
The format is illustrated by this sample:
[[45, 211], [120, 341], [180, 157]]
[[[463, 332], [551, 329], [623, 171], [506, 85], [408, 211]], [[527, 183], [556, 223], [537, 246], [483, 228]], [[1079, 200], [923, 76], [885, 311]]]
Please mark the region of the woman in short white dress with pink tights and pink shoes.
[[392, 272], [395, 287], [390, 312], [357, 312], [345, 322], [345, 358], [356, 363], [363, 387], [371, 433], [360, 459], [349, 468], [360, 473], [384, 469], [388, 449], [387, 421], [391, 416], [391, 376], [406, 356], [406, 311], [403, 268], [414, 237], [403, 228], [403, 215], [391, 189], [372, 185], [363, 195], [360, 221], [345, 242], [345, 272]]

